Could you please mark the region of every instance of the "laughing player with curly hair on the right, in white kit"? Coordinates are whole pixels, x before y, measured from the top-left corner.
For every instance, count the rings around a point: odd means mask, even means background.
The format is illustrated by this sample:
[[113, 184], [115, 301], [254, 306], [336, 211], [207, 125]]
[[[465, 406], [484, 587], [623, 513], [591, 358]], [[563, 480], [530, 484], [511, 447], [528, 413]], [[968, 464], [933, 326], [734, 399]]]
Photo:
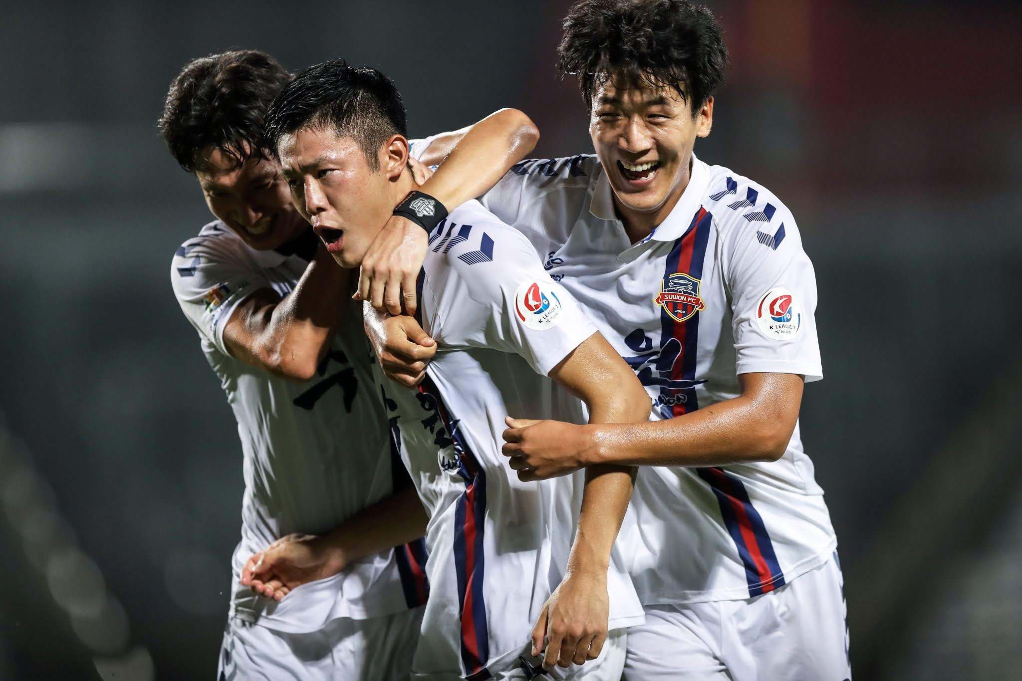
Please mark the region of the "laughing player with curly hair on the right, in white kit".
[[[687, 0], [583, 0], [559, 56], [596, 155], [522, 163], [481, 200], [544, 253], [659, 421], [512, 420], [510, 466], [641, 467], [621, 542], [646, 622], [625, 678], [849, 678], [837, 539], [798, 432], [803, 383], [822, 378], [812, 265], [777, 196], [692, 152], [721, 27]], [[414, 262], [425, 240], [407, 236], [380, 243]], [[390, 269], [375, 244], [366, 259], [367, 278]]]

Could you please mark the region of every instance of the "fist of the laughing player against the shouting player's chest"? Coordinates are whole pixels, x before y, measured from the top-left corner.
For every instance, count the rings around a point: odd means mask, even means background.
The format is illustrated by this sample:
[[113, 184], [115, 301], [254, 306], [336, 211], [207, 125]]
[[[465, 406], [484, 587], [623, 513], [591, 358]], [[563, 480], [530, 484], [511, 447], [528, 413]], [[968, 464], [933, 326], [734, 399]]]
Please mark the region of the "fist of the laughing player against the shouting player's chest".
[[590, 429], [560, 421], [504, 420], [505, 445], [501, 451], [518, 480], [529, 482], [567, 475], [588, 466], [596, 446]]

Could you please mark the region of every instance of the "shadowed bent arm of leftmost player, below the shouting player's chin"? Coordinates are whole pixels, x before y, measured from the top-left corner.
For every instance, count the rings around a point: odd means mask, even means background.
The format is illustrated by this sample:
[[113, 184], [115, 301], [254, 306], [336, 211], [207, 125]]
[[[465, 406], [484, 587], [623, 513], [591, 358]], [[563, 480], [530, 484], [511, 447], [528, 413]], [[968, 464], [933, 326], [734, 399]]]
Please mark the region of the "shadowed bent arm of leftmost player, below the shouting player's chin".
[[262, 288], [238, 303], [224, 327], [224, 345], [253, 367], [308, 381], [330, 345], [352, 281], [317, 240], [316, 256], [293, 291], [281, 298]]

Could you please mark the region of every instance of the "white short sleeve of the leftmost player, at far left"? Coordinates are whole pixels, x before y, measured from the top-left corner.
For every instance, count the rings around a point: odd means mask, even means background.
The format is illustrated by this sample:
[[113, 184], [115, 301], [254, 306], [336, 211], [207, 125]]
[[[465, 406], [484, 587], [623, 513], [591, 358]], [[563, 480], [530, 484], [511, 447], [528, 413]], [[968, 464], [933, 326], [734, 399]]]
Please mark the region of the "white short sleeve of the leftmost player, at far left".
[[217, 236], [198, 236], [182, 244], [171, 264], [174, 295], [199, 335], [226, 355], [224, 327], [253, 291], [270, 283], [240, 253]]

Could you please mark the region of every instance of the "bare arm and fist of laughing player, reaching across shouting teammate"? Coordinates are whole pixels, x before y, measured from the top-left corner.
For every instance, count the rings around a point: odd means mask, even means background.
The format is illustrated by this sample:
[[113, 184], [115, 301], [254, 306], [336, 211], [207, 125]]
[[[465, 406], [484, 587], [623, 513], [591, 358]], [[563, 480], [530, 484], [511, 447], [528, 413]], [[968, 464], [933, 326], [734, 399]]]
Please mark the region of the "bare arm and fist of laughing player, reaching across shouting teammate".
[[546, 479], [588, 466], [730, 466], [774, 461], [788, 446], [802, 400], [802, 377], [742, 374], [741, 394], [666, 421], [576, 426], [514, 422], [505, 454]]

